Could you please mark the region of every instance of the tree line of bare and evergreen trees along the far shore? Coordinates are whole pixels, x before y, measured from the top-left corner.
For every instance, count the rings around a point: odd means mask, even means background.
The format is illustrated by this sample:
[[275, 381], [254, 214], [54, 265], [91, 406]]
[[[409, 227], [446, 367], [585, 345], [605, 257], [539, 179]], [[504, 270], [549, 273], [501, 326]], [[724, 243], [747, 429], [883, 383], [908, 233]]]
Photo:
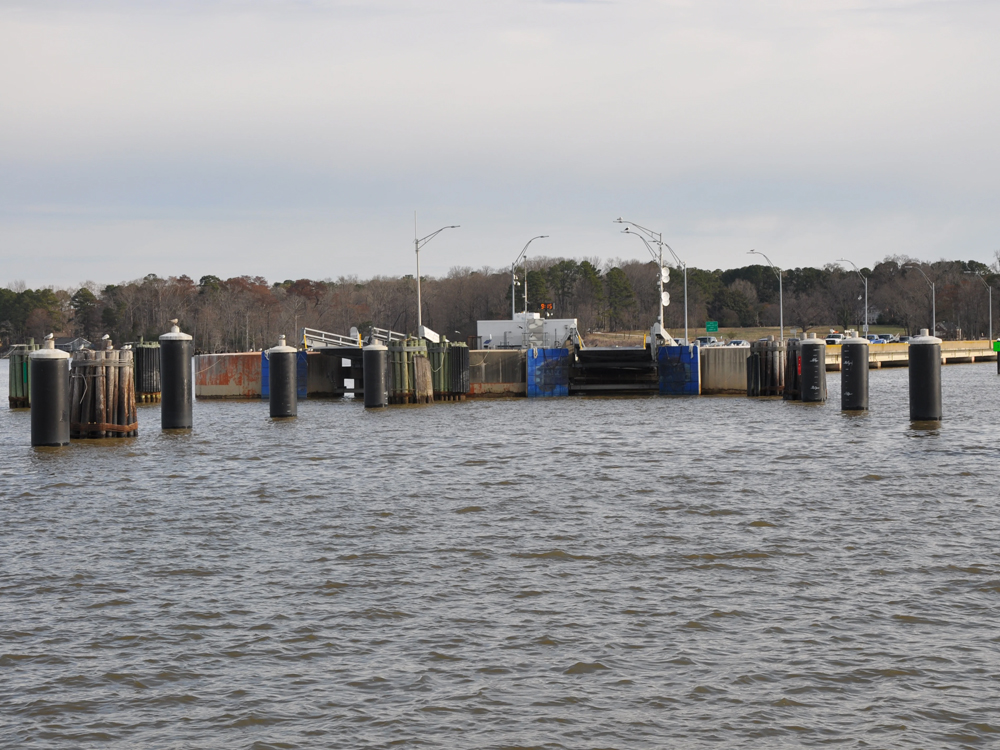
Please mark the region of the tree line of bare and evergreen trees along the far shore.
[[[784, 271], [785, 325], [800, 331], [860, 329], [865, 318], [864, 276], [871, 323], [907, 333], [930, 327], [933, 283], [939, 335], [985, 337], [989, 310], [983, 282], [993, 285], [1000, 277], [1000, 253], [992, 265], [951, 260], [920, 264], [890, 256], [860, 274], [835, 264]], [[687, 277], [692, 330], [709, 320], [722, 327], [778, 325], [778, 277], [769, 266], [714, 271], [691, 267]], [[518, 312], [526, 287], [529, 311], [551, 303], [552, 310], [545, 314], [576, 318], [581, 332], [648, 329], [659, 312], [653, 262], [535, 258], [526, 279], [524, 269], [512, 278], [510, 269], [488, 267], [456, 267], [444, 277], [421, 278], [424, 325], [452, 340], [464, 340], [475, 334], [477, 320], [510, 317], [512, 282]], [[665, 322], [677, 333], [684, 325], [681, 269], [671, 269], [666, 290], [670, 304]], [[416, 281], [407, 275], [269, 283], [260, 276], [202, 276], [195, 281], [150, 274], [104, 286], [87, 282], [77, 289], [27, 289], [23, 284], [0, 289], [0, 342], [5, 347], [49, 332], [91, 341], [107, 333], [117, 343], [155, 340], [171, 318], [179, 318], [182, 329], [195, 336], [199, 350], [210, 352], [266, 348], [279, 334], [292, 337], [302, 327], [345, 334], [352, 326], [362, 334], [372, 326], [412, 332]]]

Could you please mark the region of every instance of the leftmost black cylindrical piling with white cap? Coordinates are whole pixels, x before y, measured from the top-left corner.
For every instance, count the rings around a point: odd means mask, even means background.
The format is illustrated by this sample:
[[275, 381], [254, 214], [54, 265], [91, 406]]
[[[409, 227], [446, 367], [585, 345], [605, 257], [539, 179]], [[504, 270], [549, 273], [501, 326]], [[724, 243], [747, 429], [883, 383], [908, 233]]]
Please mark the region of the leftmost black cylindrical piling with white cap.
[[31, 444], [69, 445], [69, 354], [49, 338], [29, 358]]

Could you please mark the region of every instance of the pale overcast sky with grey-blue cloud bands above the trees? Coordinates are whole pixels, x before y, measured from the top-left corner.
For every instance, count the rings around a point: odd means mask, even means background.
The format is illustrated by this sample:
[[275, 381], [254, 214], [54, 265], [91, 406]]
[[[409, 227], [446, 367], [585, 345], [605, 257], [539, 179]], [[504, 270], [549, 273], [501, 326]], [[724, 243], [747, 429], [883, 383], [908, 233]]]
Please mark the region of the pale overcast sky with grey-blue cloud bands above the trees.
[[0, 0], [0, 284], [1000, 249], [1000, 3]]

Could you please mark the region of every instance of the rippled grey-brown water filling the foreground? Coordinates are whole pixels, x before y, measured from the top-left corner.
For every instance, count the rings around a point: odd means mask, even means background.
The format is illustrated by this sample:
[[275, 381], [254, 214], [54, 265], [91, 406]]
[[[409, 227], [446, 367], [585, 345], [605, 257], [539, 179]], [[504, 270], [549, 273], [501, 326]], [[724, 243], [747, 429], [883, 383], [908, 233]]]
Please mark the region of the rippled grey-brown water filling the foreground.
[[996, 746], [1000, 380], [924, 430], [906, 378], [56, 450], [0, 407], [0, 747]]

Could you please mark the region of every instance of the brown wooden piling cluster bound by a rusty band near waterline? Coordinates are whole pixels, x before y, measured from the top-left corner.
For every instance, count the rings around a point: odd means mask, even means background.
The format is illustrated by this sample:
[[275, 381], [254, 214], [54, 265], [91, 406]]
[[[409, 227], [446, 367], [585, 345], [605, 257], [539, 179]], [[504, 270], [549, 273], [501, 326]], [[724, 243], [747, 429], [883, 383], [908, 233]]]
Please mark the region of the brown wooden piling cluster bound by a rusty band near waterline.
[[82, 350], [70, 363], [70, 437], [135, 437], [132, 350]]

